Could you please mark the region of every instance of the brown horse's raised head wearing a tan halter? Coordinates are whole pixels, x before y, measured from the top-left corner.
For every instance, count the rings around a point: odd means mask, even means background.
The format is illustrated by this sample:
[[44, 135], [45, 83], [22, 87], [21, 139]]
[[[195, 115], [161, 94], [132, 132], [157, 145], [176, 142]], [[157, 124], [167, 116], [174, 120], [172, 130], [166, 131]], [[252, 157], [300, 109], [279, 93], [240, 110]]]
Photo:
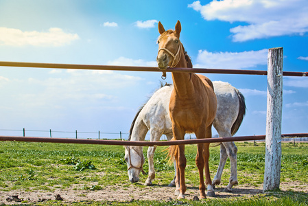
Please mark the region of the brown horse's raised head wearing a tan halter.
[[180, 21], [176, 23], [176, 30], [165, 30], [161, 21], [158, 22], [158, 54], [156, 62], [161, 70], [167, 67], [176, 67], [180, 61], [180, 54], [183, 52], [182, 43], [180, 43], [180, 31], [182, 27]]

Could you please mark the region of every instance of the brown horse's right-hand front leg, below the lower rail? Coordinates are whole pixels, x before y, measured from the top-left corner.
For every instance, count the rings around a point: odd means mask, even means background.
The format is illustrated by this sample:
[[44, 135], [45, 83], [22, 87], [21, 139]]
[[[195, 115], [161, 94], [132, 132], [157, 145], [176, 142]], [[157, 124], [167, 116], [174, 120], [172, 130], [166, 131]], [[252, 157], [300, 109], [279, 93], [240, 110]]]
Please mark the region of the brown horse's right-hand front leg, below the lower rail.
[[199, 171], [199, 179], [200, 179], [200, 198], [206, 198], [205, 195], [205, 185], [204, 185], [204, 176], [203, 176], [203, 168], [204, 168], [204, 159], [203, 159], [203, 144], [198, 144], [198, 151], [196, 156], [196, 165]]

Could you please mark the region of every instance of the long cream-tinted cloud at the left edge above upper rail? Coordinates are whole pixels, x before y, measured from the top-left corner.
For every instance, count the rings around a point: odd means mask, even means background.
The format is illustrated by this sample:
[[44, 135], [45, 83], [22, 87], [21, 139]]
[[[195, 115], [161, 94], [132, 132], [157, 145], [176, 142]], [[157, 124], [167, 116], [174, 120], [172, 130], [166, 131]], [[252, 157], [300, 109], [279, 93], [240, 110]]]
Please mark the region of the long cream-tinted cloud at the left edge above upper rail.
[[60, 28], [50, 28], [48, 32], [23, 32], [0, 27], [0, 45], [60, 47], [78, 39], [78, 34], [65, 33]]

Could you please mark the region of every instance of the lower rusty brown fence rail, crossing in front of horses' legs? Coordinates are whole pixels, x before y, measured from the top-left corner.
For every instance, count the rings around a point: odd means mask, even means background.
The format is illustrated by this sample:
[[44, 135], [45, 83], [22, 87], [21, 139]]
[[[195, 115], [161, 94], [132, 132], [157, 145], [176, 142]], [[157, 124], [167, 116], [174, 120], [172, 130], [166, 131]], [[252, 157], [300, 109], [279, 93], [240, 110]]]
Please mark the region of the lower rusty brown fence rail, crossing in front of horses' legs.
[[[290, 137], [308, 137], [308, 133], [284, 134], [283, 138]], [[48, 138], [48, 137], [12, 137], [0, 136], [0, 141], [30, 141], [30, 142], [49, 142], [49, 143], [67, 143], [67, 144], [102, 144], [102, 145], [117, 145], [117, 146], [171, 146], [185, 144], [202, 144], [216, 143], [226, 141], [249, 141], [263, 140], [265, 135], [241, 136], [241, 137], [217, 137], [209, 139], [184, 139], [173, 141], [119, 141], [108, 139], [66, 139], [66, 138]]]

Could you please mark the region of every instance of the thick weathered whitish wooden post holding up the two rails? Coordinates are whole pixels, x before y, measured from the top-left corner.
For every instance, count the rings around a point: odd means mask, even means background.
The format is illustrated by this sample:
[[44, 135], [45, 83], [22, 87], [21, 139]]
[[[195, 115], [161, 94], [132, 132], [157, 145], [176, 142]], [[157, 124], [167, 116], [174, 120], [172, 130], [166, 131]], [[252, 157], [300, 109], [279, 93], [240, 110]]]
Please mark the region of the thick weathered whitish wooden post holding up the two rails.
[[281, 118], [283, 106], [283, 47], [268, 49], [268, 106], [263, 192], [279, 189]]

